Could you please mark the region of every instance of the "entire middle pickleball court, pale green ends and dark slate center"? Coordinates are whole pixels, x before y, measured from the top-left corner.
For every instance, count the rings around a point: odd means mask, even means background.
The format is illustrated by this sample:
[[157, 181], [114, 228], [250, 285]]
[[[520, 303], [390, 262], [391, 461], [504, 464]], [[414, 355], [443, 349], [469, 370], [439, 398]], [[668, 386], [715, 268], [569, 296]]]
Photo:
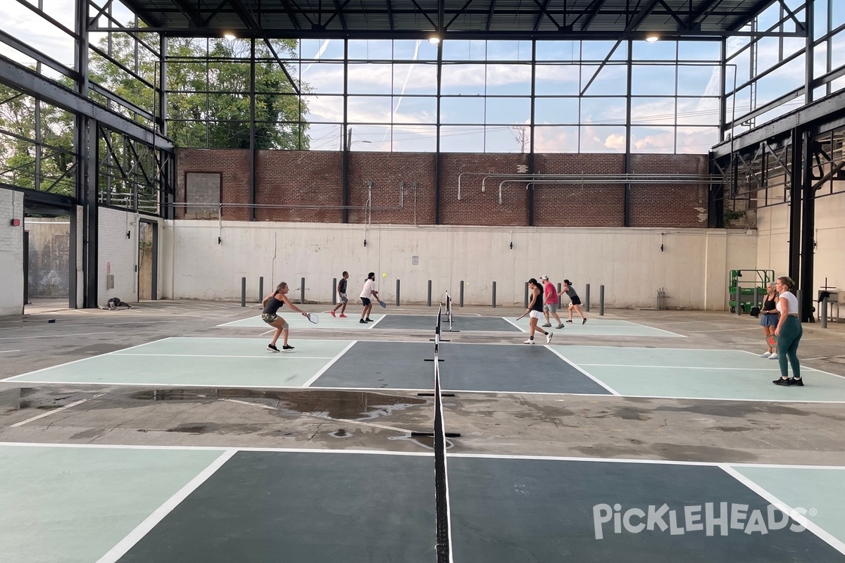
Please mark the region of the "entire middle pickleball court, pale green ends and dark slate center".
[[[521, 338], [521, 337], [520, 337]], [[520, 342], [521, 340], [517, 340]], [[177, 387], [429, 389], [428, 342], [164, 338], [55, 365], [6, 382]], [[805, 387], [771, 384], [777, 361], [741, 350], [542, 344], [443, 344], [455, 392], [529, 392], [760, 401], [845, 402], [845, 378], [804, 366]]]

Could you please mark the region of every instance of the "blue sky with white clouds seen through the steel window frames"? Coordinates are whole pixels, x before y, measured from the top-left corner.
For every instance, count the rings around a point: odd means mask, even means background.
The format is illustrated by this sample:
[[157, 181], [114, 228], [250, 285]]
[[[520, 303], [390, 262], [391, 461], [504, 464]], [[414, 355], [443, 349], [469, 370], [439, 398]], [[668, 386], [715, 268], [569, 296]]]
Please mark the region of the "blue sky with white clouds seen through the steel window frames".
[[[28, 0], [41, 2], [58, 24], [73, 29], [73, 0]], [[790, 0], [790, 3], [796, 3]], [[823, 4], [823, 3], [817, 3]], [[131, 12], [115, 2], [115, 18], [128, 21]], [[834, 2], [830, 17], [833, 27], [845, 19], [845, 2]], [[777, 4], [776, 4], [777, 7]], [[771, 25], [776, 19], [768, 10], [760, 19]], [[819, 28], [818, 12], [816, 33]], [[827, 14], [824, 14], [827, 16]], [[827, 18], [824, 18], [825, 24]], [[40, 19], [17, 0], [0, 3], [0, 29], [68, 66], [74, 43], [56, 25]], [[842, 36], [831, 52], [845, 51]], [[92, 39], [94, 42], [95, 39]], [[745, 38], [728, 41], [728, 53], [742, 50]], [[778, 52], [800, 49], [800, 39], [764, 39], [757, 49], [758, 71], [777, 64]], [[837, 46], [839, 47], [837, 51]], [[535, 70], [535, 149], [537, 152], [624, 151], [626, 116], [625, 89], [627, 45], [613, 52], [610, 62], [599, 70], [597, 62], [608, 56], [613, 41], [555, 41], [537, 45]], [[720, 78], [716, 61], [717, 42], [690, 41], [676, 44], [658, 41], [635, 42], [632, 57], [631, 102], [632, 152], [706, 153], [718, 142], [718, 99]], [[825, 61], [826, 48], [815, 53]], [[307, 96], [309, 134], [313, 149], [338, 149], [343, 116], [343, 42], [301, 41], [303, 62], [292, 64], [292, 75], [310, 84]], [[531, 43], [529, 41], [445, 41], [445, 64], [440, 116], [441, 150], [519, 152], [526, 145], [526, 124], [531, 106]], [[355, 150], [434, 150], [437, 116], [437, 48], [428, 41], [350, 41], [348, 115]], [[9, 46], [0, 43], [0, 55], [25, 64], [32, 63]], [[678, 57], [685, 63], [674, 64]], [[833, 67], [842, 64], [841, 56]], [[392, 64], [391, 59], [405, 62]], [[373, 62], [367, 62], [373, 60]], [[486, 64], [486, 61], [495, 61]], [[590, 60], [579, 64], [580, 60]], [[637, 61], [651, 61], [636, 63]], [[380, 62], [379, 62], [380, 61]], [[838, 64], [837, 64], [838, 62]], [[728, 88], [750, 75], [748, 49], [731, 60]], [[735, 65], [735, 67], [733, 67]], [[817, 69], [818, 70], [818, 69]], [[47, 71], [47, 74], [53, 71]], [[756, 87], [758, 104], [803, 84], [804, 57], [760, 79]], [[587, 84], [589, 83], [589, 87]], [[845, 84], [840, 84], [841, 88]], [[675, 97], [678, 95], [679, 97]], [[495, 97], [490, 97], [495, 96]], [[752, 108], [751, 89], [744, 88], [728, 100], [728, 119]], [[770, 119], [797, 107], [799, 102], [771, 111]], [[677, 124], [676, 124], [677, 121]], [[758, 118], [757, 124], [760, 124]], [[748, 127], [748, 126], [746, 126]]]

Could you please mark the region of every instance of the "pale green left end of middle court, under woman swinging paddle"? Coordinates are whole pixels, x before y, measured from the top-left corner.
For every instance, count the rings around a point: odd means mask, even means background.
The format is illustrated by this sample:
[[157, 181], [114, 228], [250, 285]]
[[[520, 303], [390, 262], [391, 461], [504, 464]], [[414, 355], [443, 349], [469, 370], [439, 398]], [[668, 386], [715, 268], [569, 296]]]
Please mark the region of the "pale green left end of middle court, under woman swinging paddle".
[[[274, 353], [268, 338], [165, 338], [5, 381], [185, 387], [300, 387], [324, 371], [350, 340], [291, 339]], [[281, 348], [281, 340], [279, 341]]]

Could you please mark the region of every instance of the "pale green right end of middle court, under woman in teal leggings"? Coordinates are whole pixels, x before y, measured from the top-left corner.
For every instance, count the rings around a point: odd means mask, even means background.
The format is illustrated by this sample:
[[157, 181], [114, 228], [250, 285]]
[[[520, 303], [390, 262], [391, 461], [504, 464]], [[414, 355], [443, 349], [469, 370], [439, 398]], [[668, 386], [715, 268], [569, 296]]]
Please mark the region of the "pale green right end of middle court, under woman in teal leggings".
[[741, 350], [552, 348], [625, 397], [845, 401], [845, 377], [802, 366], [804, 387], [773, 385], [777, 360]]

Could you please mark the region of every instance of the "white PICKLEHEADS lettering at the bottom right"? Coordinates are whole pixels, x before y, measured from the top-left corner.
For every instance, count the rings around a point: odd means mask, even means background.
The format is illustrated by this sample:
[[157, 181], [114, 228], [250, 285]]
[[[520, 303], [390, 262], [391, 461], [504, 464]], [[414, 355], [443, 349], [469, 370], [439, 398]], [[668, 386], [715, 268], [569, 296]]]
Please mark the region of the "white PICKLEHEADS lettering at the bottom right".
[[[774, 505], [765, 509], [755, 508], [749, 512], [749, 505], [729, 502], [706, 502], [704, 505], [681, 506], [677, 510], [667, 504], [650, 505], [645, 509], [634, 506], [623, 510], [622, 505], [598, 504], [592, 507], [592, 521], [596, 530], [596, 539], [604, 538], [605, 533], [640, 533], [643, 530], [659, 530], [670, 535], [682, 535], [689, 532], [704, 532], [708, 536], [716, 534], [727, 536], [732, 530], [738, 533], [766, 534], [789, 526], [793, 532], [803, 532], [804, 526], [795, 522], [797, 516], [815, 514], [804, 508], [793, 508], [789, 513]], [[789, 523], [793, 520], [792, 524]], [[613, 522], [613, 523], [611, 523]], [[607, 529], [605, 528], [607, 524]]]

